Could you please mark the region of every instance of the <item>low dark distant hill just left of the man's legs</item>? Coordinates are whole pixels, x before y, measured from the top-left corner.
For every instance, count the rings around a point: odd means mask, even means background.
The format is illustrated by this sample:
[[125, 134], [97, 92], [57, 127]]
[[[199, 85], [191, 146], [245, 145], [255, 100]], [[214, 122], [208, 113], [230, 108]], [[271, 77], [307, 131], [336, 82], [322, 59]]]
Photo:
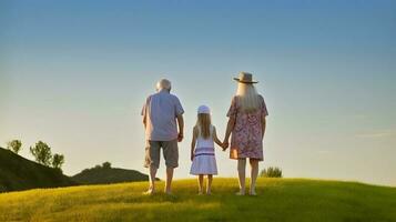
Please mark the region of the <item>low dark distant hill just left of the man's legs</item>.
[[81, 184], [109, 184], [121, 182], [148, 181], [149, 176], [135, 170], [118, 168], [92, 168], [72, 176]]

